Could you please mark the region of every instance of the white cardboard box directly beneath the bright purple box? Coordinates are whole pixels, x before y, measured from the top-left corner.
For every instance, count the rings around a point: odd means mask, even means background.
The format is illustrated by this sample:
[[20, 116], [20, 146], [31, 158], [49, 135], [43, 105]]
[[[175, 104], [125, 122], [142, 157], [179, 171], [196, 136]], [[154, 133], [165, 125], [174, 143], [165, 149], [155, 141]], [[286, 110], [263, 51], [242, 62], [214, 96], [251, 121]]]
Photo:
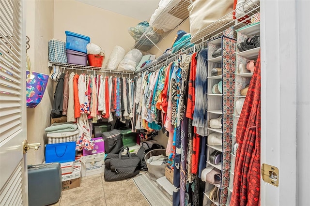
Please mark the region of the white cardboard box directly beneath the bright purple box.
[[83, 156], [79, 160], [82, 162], [82, 177], [104, 172], [105, 153]]

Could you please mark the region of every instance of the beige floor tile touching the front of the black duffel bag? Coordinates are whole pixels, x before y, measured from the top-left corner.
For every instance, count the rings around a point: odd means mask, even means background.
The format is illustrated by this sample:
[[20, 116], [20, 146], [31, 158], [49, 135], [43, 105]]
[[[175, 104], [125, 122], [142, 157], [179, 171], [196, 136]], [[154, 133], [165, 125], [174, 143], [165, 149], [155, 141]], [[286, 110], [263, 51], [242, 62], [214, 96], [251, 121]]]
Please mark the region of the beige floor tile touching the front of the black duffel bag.
[[128, 189], [136, 187], [134, 181], [132, 179], [125, 179], [121, 181], [115, 181], [115, 182], [106, 182], [104, 180], [104, 177], [102, 177], [102, 184], [103, 189], [105, 192], [105, 195], [107, 196], [110, 193], [118, 193], [120, 190]]

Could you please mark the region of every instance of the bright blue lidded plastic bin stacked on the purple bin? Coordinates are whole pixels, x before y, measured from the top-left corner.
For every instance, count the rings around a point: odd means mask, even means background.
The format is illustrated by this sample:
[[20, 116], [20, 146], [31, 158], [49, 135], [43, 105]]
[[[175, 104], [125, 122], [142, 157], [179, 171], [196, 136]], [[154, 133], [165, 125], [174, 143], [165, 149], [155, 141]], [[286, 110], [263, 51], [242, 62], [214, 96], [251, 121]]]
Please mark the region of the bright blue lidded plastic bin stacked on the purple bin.
[[86, 45], [91, 42], [91, 38], [71, 31], [65, 31], [66, 49], [79, 51], [87, 54]]

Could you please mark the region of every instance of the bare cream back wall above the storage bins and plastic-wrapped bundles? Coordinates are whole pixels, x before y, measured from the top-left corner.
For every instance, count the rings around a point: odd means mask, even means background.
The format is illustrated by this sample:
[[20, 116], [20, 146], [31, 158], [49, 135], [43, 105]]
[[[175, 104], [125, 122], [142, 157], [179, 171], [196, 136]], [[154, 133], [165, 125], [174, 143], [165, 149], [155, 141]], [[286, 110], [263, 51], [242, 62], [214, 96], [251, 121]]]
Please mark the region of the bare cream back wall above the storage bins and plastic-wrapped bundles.
[[89, 36], [92, 43], [105, 51], [103, 65], [115, 45], [122, 46], [126, 52], [131, 49], [135, 41], [127, 29], [139, 22], [75, 0], [55, 0], [54, 3], [54, 38], [65, 41], [66, 30]]

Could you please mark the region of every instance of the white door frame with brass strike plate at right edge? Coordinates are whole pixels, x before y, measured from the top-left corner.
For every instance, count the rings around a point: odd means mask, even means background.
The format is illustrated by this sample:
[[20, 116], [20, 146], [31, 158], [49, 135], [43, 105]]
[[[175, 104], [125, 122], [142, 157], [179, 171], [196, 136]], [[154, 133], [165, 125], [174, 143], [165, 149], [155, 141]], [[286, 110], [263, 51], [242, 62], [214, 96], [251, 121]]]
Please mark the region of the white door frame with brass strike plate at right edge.
[[310, 3], [261, 0], [260, 6], [261, 164], [279, 168], [279, 187], [261, 178], [261, 205], [307, 205]]

